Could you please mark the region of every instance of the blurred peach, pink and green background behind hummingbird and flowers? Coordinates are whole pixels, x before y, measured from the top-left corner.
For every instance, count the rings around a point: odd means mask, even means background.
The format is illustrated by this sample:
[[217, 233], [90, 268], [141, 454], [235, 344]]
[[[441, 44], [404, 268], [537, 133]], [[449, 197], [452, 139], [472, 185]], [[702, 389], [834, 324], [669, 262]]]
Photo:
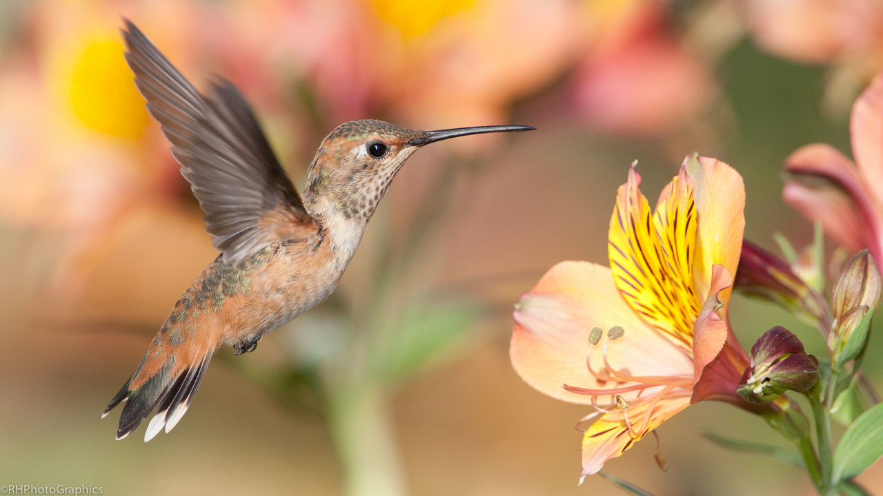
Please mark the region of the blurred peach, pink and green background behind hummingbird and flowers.
[[[122, 17], [197, 86], [236, 83], [298, 187], [352, 119], [537, 131], [421, 151], [327, 303], [256, 353], [222, 349], [173, 434], [116, 441], [118, 414], [102, 410], [215, 257], [125, 67]], [[849, 154], [849, 107], [883, 64], [879, 19], [862, 0], [3, 2], [0, 485], [338, 494], [387, 474], [413, 494], [619, 494], [597, 477], [577, 487], [573, 425], [588, 411], [517, 377], [511, 305], [557, 261], [606, 261], [636, 159], [651, 201], [684, 155], [728, 162], [746, 237], [808, 243], [781, 163], [815, 141]], [[783, 325], [825, 349], [771, 304], [731, 308], [746, 348]], [[812, 492], [706, 431], [781, 444], [704, 402], [658, 430], [668, 473], [652, 440], [606, 469], [658, 494]], [[883, 467], [859, 480], [874, 492]]]

